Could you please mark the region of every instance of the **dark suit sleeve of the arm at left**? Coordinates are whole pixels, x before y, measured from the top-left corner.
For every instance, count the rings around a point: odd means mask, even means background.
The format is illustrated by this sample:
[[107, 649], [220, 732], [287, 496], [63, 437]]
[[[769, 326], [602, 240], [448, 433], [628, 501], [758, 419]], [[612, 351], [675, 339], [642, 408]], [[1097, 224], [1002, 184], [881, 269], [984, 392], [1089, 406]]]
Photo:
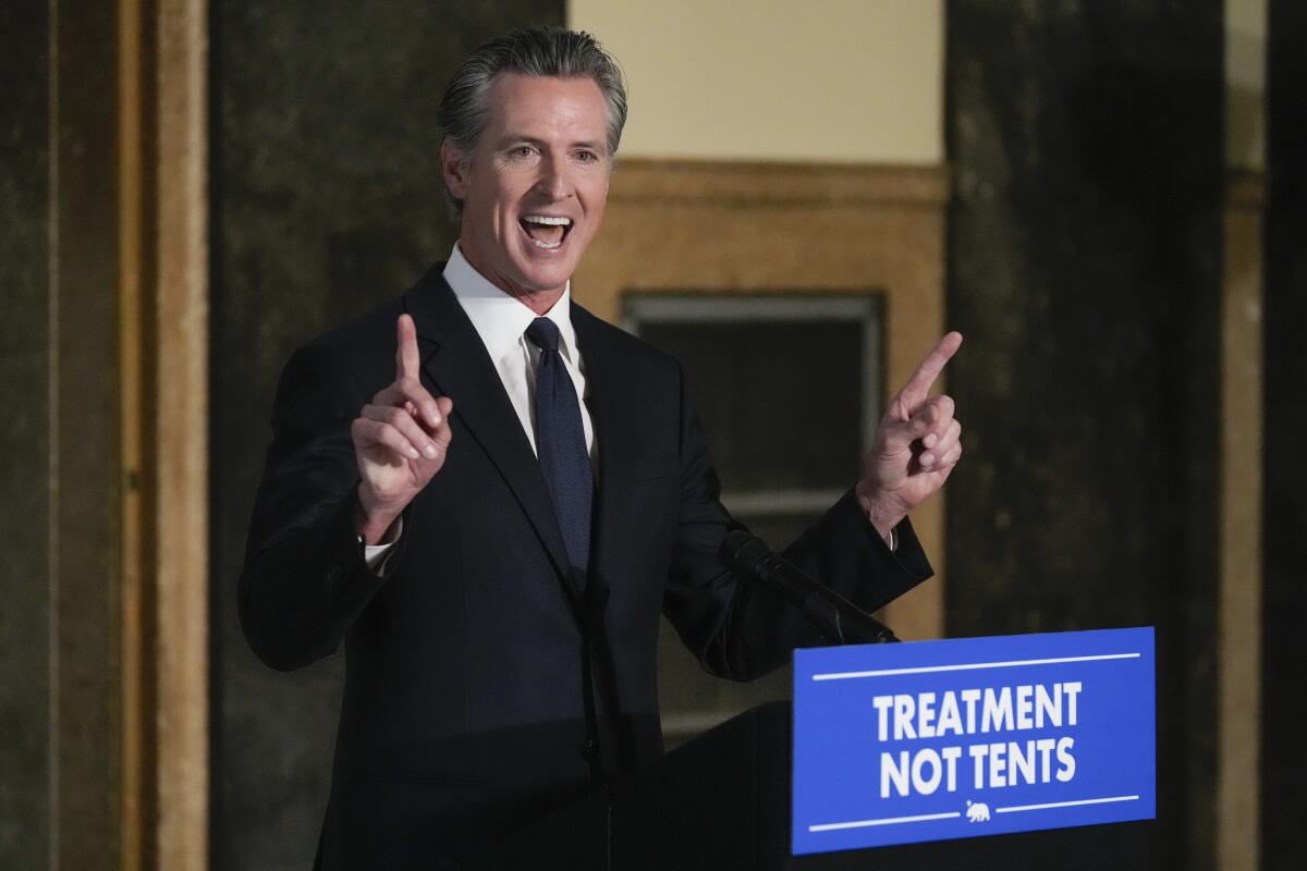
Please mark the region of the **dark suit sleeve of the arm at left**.
[[[281, 375], [238, 589], [246, 639], [273, 669], [335, 652], [384, 582], [369, 571], [354, 525], [349, 427], [365, 402], [344, 363], [319, 346], [297, 351]], [[404, 537], [388, 565], [403, 546]]]

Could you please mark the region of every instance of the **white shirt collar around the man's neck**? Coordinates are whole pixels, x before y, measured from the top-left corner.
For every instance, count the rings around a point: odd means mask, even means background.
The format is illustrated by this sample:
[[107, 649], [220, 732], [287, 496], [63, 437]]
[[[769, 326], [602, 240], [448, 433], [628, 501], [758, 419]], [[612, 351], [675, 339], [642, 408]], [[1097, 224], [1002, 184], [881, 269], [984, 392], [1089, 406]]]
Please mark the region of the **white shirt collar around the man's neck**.
[[[490, 283], [468, 262], [457, 243], [454, 243], [450, 260], [444, 264], [444, 281], [481, 336], [490, 359], [503, 359], [506, 354], [519, 347], [520, 341], [525, 341], [523, 334], [536, 320], [536, 312]], [[571, 324], [570, 281], [563, 287], [563, 295], [544, 316], [558, 328], [558, 350], [569, 362], [575, 363], [576, 330]]]

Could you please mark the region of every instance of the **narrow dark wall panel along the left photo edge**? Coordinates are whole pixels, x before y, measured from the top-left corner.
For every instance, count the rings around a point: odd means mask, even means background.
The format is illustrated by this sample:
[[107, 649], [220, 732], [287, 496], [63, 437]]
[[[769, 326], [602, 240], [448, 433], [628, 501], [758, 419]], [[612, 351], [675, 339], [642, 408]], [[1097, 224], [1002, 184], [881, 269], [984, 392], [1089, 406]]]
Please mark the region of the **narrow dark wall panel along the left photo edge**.
[[0, 867], [50, 850], [48, 25], [0, 12]]

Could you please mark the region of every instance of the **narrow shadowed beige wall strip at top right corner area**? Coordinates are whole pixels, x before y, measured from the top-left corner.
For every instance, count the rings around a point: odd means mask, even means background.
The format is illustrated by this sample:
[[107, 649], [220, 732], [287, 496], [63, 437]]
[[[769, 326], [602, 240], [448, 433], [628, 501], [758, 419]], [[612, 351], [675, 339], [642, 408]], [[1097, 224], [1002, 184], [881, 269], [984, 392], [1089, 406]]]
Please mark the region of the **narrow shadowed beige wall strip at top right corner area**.
[[1226, 165], [1266, 166], [1266, 0], [1226, 0]]

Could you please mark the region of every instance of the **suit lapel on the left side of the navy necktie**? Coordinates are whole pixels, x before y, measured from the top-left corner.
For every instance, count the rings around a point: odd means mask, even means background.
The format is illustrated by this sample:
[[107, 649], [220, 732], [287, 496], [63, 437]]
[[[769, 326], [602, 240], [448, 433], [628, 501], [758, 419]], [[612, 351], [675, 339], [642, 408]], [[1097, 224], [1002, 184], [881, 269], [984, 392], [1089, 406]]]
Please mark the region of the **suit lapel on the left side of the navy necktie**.
[[454, 415], [503, 475], [576, 607], [578, 590], [566, 568], [567, 552], [540, 462], [481, 337], [440, 274], [442, 266], [433, 266], [404, 295], [404, 307], [417, 325], [423, 372], [440, 396], [454, 400]]

